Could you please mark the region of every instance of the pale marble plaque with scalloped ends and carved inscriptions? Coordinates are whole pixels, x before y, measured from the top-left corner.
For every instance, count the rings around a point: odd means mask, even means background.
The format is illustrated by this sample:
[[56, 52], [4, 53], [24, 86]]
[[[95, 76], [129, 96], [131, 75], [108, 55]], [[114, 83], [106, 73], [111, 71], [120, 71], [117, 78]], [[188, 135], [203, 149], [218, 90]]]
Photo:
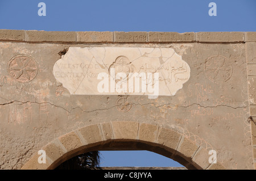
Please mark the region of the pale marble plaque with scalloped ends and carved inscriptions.
[[55, 78], [72, 95], [152, 98], [175, 95], [188, 81], [190, 71], [172, 48], [70, 47], [53, 66]]

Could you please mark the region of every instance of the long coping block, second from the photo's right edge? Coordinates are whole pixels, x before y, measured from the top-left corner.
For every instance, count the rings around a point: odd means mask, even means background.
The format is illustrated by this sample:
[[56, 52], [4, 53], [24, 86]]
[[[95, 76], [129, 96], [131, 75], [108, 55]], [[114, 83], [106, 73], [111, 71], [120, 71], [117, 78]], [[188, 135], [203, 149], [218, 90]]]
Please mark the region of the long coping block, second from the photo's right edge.
[[198, 42], [243, 42], [243, 32], [197, 32]]

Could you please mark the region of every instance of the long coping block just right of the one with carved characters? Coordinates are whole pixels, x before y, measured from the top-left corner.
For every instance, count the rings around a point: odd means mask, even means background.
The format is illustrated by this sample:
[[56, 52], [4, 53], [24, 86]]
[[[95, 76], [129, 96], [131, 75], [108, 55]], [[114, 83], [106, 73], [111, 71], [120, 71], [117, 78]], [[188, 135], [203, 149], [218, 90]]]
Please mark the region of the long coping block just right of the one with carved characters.
[[194, 32], [148, 32], [148, 42], [192, 42], [195, 40]]

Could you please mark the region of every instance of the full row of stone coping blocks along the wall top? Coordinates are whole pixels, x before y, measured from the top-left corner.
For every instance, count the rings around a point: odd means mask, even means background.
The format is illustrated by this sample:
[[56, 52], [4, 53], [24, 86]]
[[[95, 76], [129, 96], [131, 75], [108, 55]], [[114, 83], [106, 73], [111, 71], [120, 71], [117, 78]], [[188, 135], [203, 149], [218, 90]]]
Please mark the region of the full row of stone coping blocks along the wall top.
[[36, 43], [245, 43], [256, 42], [256, 32], [97, 32], [0, 30], [0, 41]]

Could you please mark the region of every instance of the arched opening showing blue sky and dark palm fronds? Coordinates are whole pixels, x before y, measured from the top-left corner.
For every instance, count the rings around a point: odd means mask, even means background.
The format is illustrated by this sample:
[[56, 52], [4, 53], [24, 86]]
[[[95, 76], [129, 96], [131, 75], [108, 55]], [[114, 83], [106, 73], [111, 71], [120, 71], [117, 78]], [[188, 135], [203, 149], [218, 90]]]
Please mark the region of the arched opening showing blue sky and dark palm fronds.
[[55, 170], [106, 169], [186, 170], [179, 162], [147, 150], [90, 151], [76, 155], [55, 168]]

